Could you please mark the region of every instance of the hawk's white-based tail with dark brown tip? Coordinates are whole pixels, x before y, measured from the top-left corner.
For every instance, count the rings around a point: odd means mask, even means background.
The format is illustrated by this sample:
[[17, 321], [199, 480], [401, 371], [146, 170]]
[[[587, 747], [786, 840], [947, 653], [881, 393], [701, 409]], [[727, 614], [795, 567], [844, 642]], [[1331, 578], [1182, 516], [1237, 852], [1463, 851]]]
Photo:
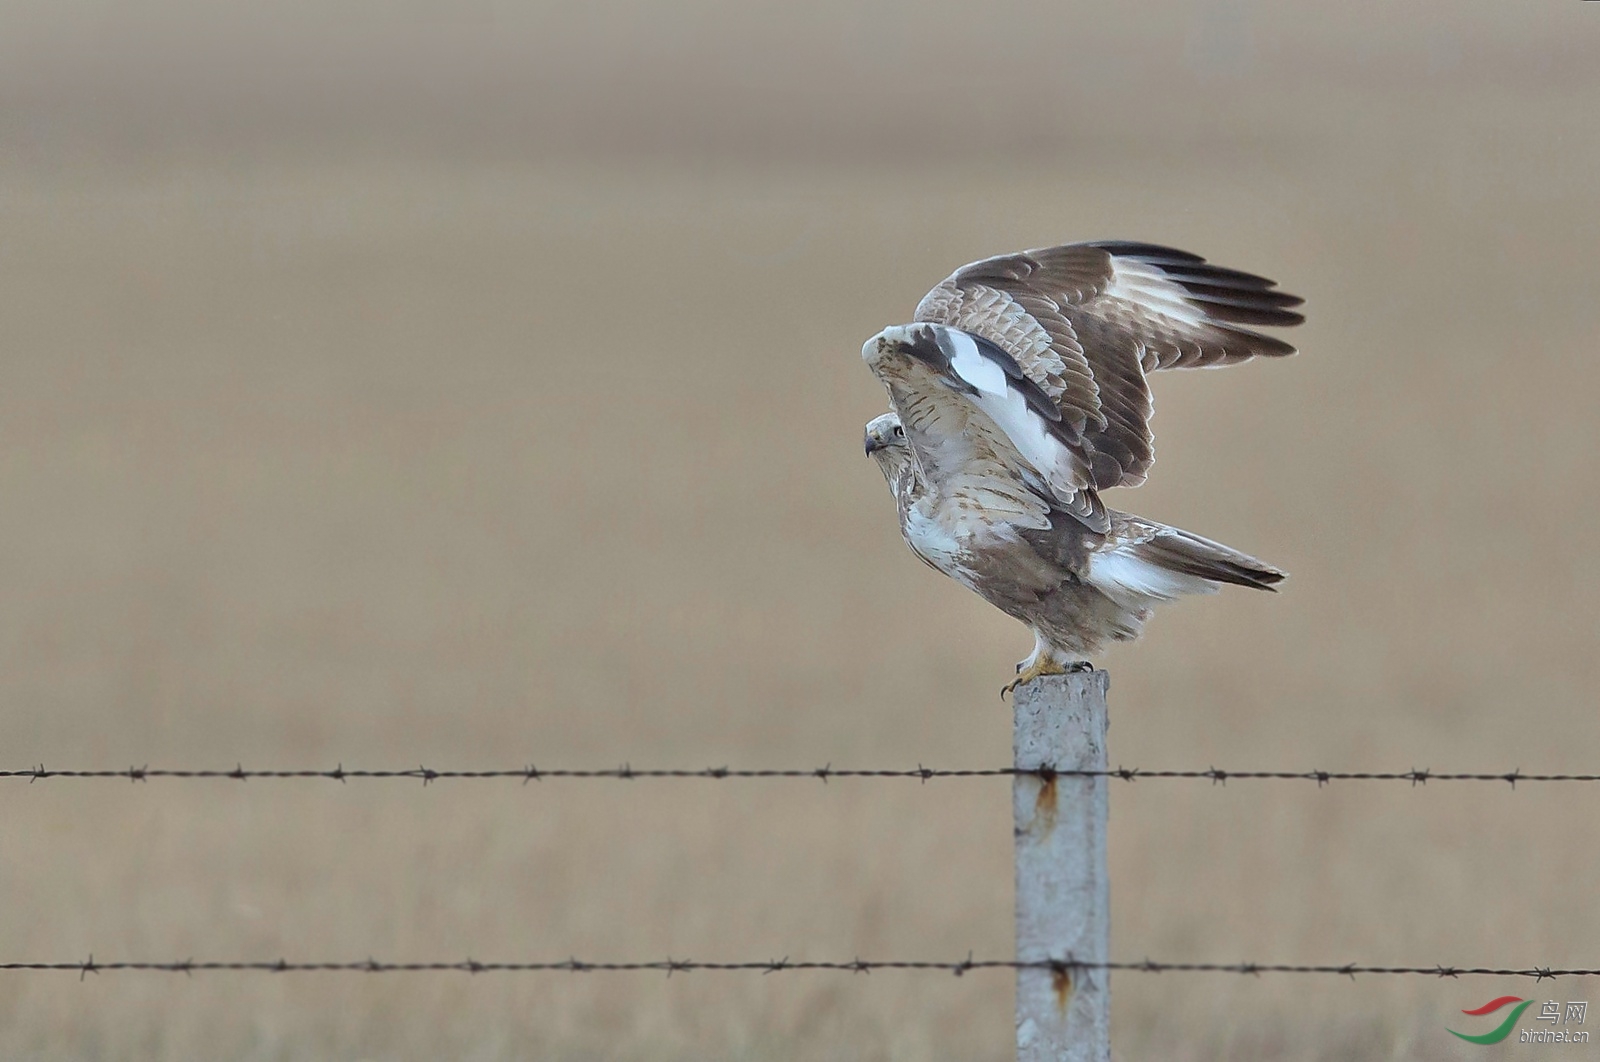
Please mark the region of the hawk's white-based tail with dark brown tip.
[[1090, 557], [1088, 581], [1114, 598], [1171, 600], [1214, 593], [1224, 582], [1277, 590], [1288, 577], [1248, 553], [1178, 528], [1138, 521], [1126, 531], [1131, 534], [1120, 544]]

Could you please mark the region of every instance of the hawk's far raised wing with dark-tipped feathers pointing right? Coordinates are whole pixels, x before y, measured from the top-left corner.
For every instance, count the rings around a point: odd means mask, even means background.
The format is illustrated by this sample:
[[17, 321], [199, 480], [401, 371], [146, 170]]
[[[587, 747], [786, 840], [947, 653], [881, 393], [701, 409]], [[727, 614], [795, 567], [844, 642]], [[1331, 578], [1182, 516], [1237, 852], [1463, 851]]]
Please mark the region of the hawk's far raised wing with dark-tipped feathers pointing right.
[[1251, 331], [1306, 320], [1275, 283], [1150, 243], [1069, 243], [963, 266], [917, 305], [917, 320], [994, 344], [1038, 395], [1027, 405], [1075, 451], [1080, 488], [1144, 483], [1155, 462], [1157, 369], [1232, 365], [1294, 347]]

